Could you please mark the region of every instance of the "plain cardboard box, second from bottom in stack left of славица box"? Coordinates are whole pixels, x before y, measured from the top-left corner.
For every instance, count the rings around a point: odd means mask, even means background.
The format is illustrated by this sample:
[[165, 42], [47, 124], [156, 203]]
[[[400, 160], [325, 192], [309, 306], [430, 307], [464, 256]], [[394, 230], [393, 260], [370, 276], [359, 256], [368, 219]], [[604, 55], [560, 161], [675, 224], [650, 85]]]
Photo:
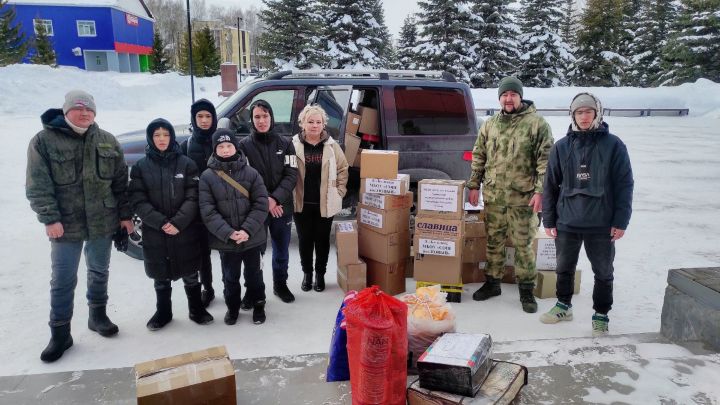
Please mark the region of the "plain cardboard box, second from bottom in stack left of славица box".
[[360, 228], [358, 251], [363, 259], [395, 263], [408, 257], [410, 235], [408, 232], [383, 235], [368, 228]]

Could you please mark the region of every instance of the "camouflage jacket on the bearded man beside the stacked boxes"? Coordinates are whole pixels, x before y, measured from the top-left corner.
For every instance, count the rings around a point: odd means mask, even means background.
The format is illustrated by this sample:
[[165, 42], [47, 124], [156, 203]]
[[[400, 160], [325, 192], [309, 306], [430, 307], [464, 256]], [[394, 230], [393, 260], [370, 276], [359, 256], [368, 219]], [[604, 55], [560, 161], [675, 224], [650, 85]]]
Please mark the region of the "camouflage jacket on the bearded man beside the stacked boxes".
[[480, 127], [468, 188], [482, 183], [486, 204], [524, 206], [534, 193], [542, 194], [553, 137], [536, 111], [532, 101], [523, 100], [519, 112], [500, 112]]

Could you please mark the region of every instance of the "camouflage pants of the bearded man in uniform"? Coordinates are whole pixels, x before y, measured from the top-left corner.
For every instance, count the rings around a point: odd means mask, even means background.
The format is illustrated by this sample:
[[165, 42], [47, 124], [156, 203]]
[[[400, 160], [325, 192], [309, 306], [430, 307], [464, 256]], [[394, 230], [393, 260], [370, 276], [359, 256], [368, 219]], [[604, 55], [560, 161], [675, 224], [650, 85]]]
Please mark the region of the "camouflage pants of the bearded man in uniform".
[[502, 278], [505, 272], [505, 240], [515, 247], [515, 276], [519, 283], [535, 283], [535, 254], [532, 243], [538, 228], [532, 207], [485, 205], [488, 264], [485, 273]]

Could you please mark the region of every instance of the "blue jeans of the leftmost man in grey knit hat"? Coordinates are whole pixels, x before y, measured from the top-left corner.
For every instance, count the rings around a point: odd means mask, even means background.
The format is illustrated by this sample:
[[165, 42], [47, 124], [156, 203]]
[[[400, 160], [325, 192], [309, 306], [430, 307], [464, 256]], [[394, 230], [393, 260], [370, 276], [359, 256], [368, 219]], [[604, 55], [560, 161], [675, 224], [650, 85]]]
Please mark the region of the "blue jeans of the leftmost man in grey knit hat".
[[[83, 249], [83, 245], [85, 248]], [[73, 315], [80, 253], [85, 252], [87, 266], [87, 300], [89, 307], [107, 305], [108, 268], [112, 237], [84, 242], [50, 242], [52, 276], [50, 278], [50, 322], [61, 326], [70, 323]]]

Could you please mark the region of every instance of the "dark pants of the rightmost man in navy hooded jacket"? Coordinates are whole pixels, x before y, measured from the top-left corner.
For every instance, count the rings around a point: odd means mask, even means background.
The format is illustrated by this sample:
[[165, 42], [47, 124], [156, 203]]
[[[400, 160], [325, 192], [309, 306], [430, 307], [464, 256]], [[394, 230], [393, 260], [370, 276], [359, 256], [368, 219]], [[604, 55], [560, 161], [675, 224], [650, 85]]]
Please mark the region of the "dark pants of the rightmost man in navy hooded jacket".
[[593, 274], [593, 309], [607, 314], [612, 308], [613, 261], [615, 260], [615, 242], [607, 233], [575, 233], [558, 231], [555, 239], [557, 251], [557, 297], [563, 304], [570, 304], [575, 286], [575, 267], [580, 247], [585, 244]]

